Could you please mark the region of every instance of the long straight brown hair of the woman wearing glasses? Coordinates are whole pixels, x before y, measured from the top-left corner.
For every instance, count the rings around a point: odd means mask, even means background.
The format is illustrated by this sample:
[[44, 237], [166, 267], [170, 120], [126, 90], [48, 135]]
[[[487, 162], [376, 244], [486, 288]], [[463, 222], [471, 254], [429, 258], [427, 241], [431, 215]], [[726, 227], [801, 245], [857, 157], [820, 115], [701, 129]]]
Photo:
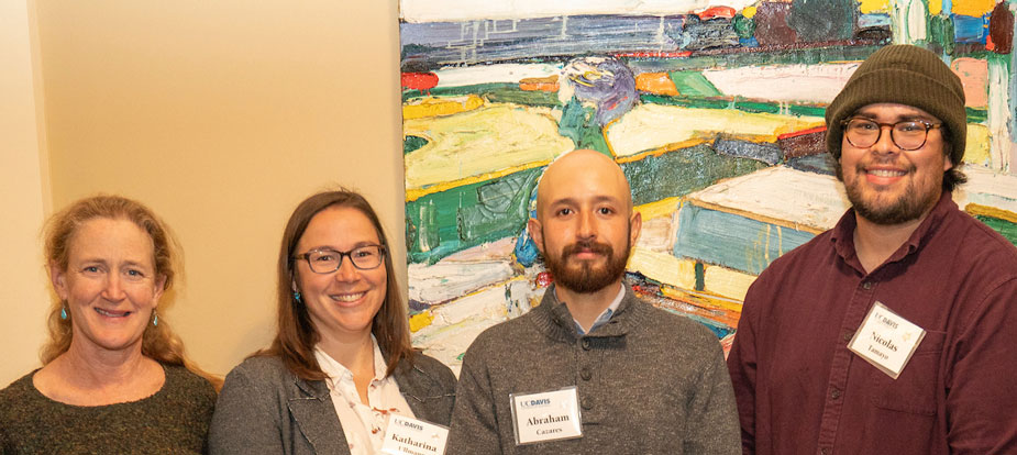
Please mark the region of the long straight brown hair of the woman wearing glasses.
[[[314, 358], [314, 345], [321, 335], [311, 323], [307, 306], [294, 298], [291, 287], [296, 264], [294, 255], [297, 254], [297, 243], [303, 236], [303, 231], [307, 230], [311, 219], [330, 207], [347, 207], [364, 213], [377, 231], [382, 245], [388, 247], [388, 238], [385, 236], [385, 230], [382, 229], [377, 213], [363, 196], [351, 190], [319, 192], [300, 202], [289, 217], [286, 230], [283, 232], [283, 244], [279, 248], [277, 265], [278, 333], [272, 346], [254, 355], [279, 356], [290, 371], [307, 380], [322, 380], [325, 374]], [[385, 354], [388, 363], [385, 375], [388, 376], [395, 371], [400, 362], [406, 360], [412, 364], [416, 352], [410, 344], [408, 312], [396, 284], [396, 270], [390, 254], [385, 255], [384, 264], [387, 275], [385, 299], [371, 324], [371, 333], [378, 340], [378, 347]]]

